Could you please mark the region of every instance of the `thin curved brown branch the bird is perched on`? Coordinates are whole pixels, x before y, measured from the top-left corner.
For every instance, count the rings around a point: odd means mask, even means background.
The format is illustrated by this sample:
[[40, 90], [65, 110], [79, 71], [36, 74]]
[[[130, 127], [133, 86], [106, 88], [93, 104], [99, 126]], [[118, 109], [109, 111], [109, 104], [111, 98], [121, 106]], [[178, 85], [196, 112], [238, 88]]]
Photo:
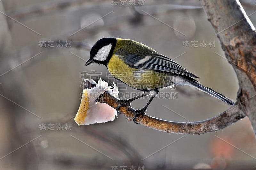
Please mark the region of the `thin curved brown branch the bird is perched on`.
[[[113, 108], [118, 106], [117, 100], [117, 98], [113, 97], [108, 92], [101, 94], [97, 99], [97, 101], [107, 103]], [[125, 105], [119, 108], [119, 112], [125, 115], [129, 121], [131, 121], [133, 119], [135, 109]], [[201, 134], [223, 129], [244, 117], [244, 113], [237, 106], [231, 106], [225, 112], [220, 113], [211, 119], [199, 122], [172, 122], [157, 119], [149, 115], [140, 115], [138, 118], [136, 118], [136, 122], [149, 128], [168, 133]]]

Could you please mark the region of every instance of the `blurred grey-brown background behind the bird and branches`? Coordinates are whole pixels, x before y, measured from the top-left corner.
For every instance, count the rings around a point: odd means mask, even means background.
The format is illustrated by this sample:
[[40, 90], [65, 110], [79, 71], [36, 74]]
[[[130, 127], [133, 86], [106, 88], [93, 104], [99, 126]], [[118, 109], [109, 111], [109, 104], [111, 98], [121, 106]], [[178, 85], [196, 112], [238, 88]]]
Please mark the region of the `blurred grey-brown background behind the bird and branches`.
[[[256, 9], [254, 0], [241, 4], [247, 15]], [[250, 19], [255, 26], [256, 15]], [[84, 67], [90, 48], [104, 37], [144, 43], [235, 101], [236, 74], [199, 1], [1, 0], [0, 23], [1, 170], [255, 169], [247, 117], [180, 140], [184, 135], [134, 124], [124, 115], [93, 125], [74, 121], [83, 77], [116, 82], [123, 99], [140, 93], [114, 80], [105, 66]], [[153, 100], [147, 114], [164, 120], [201, 121], [229, 107], [192, 87], [160, 92], [167, 95]]]

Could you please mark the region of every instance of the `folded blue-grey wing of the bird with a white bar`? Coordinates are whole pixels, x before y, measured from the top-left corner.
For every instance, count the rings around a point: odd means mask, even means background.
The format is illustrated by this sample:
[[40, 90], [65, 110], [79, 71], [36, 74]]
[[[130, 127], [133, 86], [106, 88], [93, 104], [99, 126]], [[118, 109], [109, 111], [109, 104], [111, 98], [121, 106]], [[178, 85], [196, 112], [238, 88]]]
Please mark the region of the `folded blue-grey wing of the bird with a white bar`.
[[194, 78], [199, 78], [195, 74], [188, 72], [181, 65], [175, 61], [167, 58], [159, 53], [152, 53], [151, 55], [138, 56], [138, 55], [128, 55], [125, 58], [128, 64], [131, 64], [135, 68], [143, 68], [149, 70], [158, 70], [174, 74], [181, 74], [185, 76], [190, 76]]

